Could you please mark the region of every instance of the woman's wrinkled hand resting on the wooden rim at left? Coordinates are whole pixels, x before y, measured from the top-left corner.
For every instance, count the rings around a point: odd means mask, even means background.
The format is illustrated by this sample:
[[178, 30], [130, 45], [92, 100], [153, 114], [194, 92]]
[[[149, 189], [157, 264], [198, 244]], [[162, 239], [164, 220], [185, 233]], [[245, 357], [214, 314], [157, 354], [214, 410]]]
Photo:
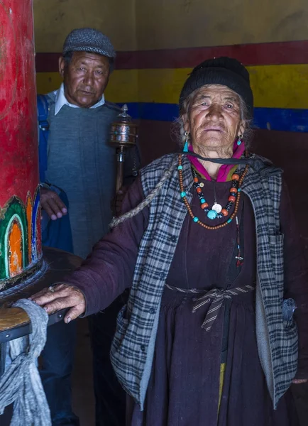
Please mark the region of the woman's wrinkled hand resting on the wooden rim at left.
[[64, 318], [67, 324], [82, 315], [86, 310], [86, 300], [82, 292], [78, 288], [67, 284], [44, 288], [30, 297], [30, 299], [43, 307], [48, 314], [70, 307], [71, 309]]

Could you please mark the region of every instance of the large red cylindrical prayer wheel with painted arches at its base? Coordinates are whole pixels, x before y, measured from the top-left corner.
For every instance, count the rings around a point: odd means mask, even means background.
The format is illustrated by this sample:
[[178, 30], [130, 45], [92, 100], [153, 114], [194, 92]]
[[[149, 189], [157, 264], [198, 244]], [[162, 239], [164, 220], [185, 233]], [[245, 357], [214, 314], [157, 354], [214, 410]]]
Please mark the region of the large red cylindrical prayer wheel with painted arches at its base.
[[0, 291], [40, 270], [33, 0], [0, 0]]

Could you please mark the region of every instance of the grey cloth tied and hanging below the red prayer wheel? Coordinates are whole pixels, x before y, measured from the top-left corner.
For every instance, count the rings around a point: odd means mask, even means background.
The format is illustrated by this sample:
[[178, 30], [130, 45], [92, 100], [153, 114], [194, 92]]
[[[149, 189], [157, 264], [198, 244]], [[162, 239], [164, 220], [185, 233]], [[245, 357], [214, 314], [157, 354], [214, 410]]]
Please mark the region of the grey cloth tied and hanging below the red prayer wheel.
[[25, 310], [32, 334], [9, 342], [11, 364], [0, 378], [0, 415], [13, 403], [11, 426], [51, 426], [37, 359], [46, 342], [48, 314], [31, 300], [21, 299], [13, 307]]

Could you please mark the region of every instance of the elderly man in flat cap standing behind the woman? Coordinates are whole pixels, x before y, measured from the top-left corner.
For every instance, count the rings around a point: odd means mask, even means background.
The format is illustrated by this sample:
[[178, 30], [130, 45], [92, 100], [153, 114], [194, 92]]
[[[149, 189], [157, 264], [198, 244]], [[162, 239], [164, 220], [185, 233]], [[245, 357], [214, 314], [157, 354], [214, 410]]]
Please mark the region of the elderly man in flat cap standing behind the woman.
[[[116, 163], [114, 148], [109, 146], [109, 132], [121, 111], [115, 104], [106, 102], [104, 90], [115, 57], [106, 35], [92, 28], [72, 31], [59, 60], [63, 84], [45, 96], [49, 126], [47, 145], [46, 138], [42, 142], [40, 137], [40, 175], [45, 176], [41, 205], [51, 219], [50, 224], [61, 223], [67, 220], [67, 205], [57, 188], [67, 195], [73, 252], [82, 258], [86, 258], [94, 243], [107, 233], [111, 220]], [[136, 153], [128, 154], [126, 178], [136, 175], [136, 160]], [[60, 236], [66, 238], [64, 231]], [[66, 243], [62, 241], [57, 248]], [[97, 425], [124, 424], [124, 397], [109, 361], [111, 337], [121, 303], [121, 299], [116, 301], [109, 311], [90, 320]], [[50, 327], [48, 334], [41, 377], [53, 425], [78, 425], [71, 409], [70, 391], [76, 325], [56, 324]], [[101, 360], [104, 360], [103, 366]]]

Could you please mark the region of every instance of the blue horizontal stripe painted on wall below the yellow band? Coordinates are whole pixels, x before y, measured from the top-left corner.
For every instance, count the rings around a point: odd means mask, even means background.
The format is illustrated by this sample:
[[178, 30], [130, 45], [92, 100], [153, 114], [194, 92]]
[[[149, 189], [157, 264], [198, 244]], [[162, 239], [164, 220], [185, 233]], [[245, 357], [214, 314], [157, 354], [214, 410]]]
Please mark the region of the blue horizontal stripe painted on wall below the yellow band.
[[[174, 121], [177, 104], [128, 103], [134, 119]], [[308, 109], [255, 108], [253, 125], [258, 129], [308, 132]]]

